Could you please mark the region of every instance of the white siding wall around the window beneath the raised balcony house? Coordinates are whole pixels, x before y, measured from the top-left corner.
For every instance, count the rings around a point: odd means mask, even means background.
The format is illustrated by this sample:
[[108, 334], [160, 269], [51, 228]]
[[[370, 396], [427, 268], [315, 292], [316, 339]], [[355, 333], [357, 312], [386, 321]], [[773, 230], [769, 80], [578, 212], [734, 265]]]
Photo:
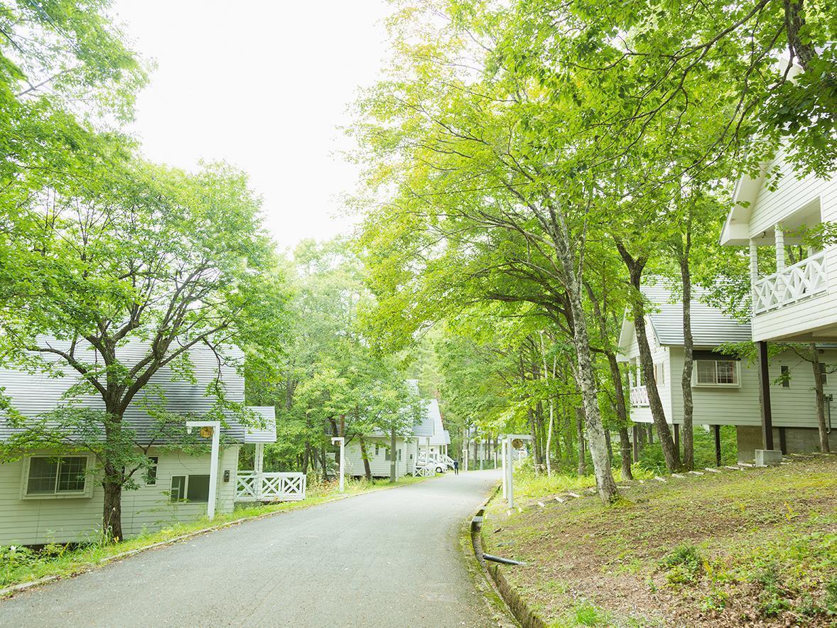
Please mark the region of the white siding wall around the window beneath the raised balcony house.
[[[675, 381], [672, 395], [672, 414], [675, 423], [683, 422], [683, 397], [680, 392], [680, 373], [683, 372], [683, 347], [671, 347], [671, 372]], [[837, 352], [829, 350], [822, 355], [824, 363], [837, 363]], [[816, 427], [817, 406], [814, 396], [814, 370], [809, 362], [798, 358], [793, 352], [782, 353], [771, 358], [769, 363], [771, 381], [781, 375], [782, 365], [791, 369], [788, 388], [780, 384], [770, 386], [770, 401], [773, 409], [773, 425], [776, 427]], [[761, 425], [761, 402], [759, 400], [758, 370], [754, 363], [742, 360], [739, 364], [741, 386], [738, 388], [692, 388], [695, 404], [694, 423], [706, 425]], [[825, 394], [834, 394], [837, 399], [837, 373], [829, 373]], [[837, 414], [837, 401], [832, 402]], [[837, 416], [834, 417], [837, 425]]]

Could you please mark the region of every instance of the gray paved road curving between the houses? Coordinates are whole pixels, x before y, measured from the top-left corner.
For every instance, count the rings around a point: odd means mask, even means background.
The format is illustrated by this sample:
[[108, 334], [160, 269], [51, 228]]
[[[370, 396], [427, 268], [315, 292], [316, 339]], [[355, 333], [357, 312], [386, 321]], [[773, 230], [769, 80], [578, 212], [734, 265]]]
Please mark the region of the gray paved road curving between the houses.
[[248, 522], [0, 602], [3, 626], [488, 626], [460, 526], [496, 471]]

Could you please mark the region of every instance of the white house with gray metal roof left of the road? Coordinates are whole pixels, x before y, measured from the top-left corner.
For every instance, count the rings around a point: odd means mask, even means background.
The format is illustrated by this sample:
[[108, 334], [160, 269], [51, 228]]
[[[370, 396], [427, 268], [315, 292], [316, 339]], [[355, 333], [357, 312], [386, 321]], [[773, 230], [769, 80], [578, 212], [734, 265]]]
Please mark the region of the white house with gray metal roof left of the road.
[[[126, 363], [135, 363], [145, 351], [138, 343], [129, 344], [121, 347], [120, 357]], [[231, 355], [234, 362], [244, 357], [238, 349], [232, 349]], [[151, 378], [151, 387], [162, 391], [167, 410], [181, 414], [184, 420], [199, 420], [215, 401], [205, 393], [207, 384], [218, 374], [218, 362], [207, 349], [191, 351], [190, 358], [194, 382], [174, 379], [170, 369], [162, 368]], [[69, 368], [62, 370], [65, 377], [0, 369], [0, 387], [5, 389], [13, 408], [24, 416], [36, 417], [63, 403], [62, 395], [77, 381]], [[235, 364], [223, 364], [221, 376], [229, 399], [244, 403], [244, 378]], [[82, 398], [80, 403], [102, 407], [100, 399], [94, 396]], [[152, 466], [147, 476], [137, 478], [137, 490], [122, 492], [122, 529], [126, 536], [207, 514], [209, 454], [190, 456], [178, 450], [176, 442], [159, 440], [153, 434], [151, 417], [141, 405], [141, 399], [136, 399], [126, 410], [125, 420], [136, 430], [138, 445], [148, 447]], [[216, 512], [233, 510], [240, 446], [276, 440], [274, 409], [253, 410], [263, 418], [259, 428], [249, 429], [229, 420], [222, 429]], [[0, 414], [0, 439], [8, 439], [14, 431], [8, 417]], [[91, 453], [70, 449], [28, 452], [17, 461], [0, 465], [0, 545], [95, 538], [100, 533], [102, 504], [100, 475], [95, 471]]]

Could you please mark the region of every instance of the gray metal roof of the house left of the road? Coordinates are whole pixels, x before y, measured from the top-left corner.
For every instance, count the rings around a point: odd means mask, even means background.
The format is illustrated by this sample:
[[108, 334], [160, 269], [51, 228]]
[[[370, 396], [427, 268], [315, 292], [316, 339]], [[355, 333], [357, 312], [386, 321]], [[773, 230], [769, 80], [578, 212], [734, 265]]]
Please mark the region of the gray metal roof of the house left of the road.
[[[67, 342], [49, 341], [56, 348], [69, 346]], [[121, 362], [127, 366], [137, 363], [146, 355], [148, 349], [140, 342], [129, 342], [117, 350]], [[226, 387], [226, 394], [230, 401], [244, 403], [244, 377], [239, 373], [239, 366], [244, 359], [237, 347], [229, 347], [229, 360], [222, 363], [220, 377]], [[91, 350], [81, 352], [85, 361], [95, 362], [97, 356]], [[206, 347], [193, 347], [189, 351], [195, 381], [177, 378], [170, 368], [163, 367], [151, 377], [149, 385], [131, 402], [125, 413], [126, 423], [136, 431], [137, 440], [151, 442], [157, 440], [152, 436], [155, 421], [142, 408], [143, 392], [151, 395], [152, 401], [164, 400], [165, 409], [171, 413], [181, 415], [185, 419], [205, 419], [213, 409], [216, 399], [207, 395], [207, 385], [218, 377], [218, 359]], [[101, 358], [98, 358], [99, 361]], [[50, 412], [62, 404], [67, 403], [63, 395], [80, 376], [69, 366], [58, 368], [59, 376], [44, 372], [28, 373], [13, 368], [0, 368], [0, 389], [11, 401], [13, 409], [23, 416], [37, 417]], [[157, 397], [162, 393], [162, 398]], [[88, 394], [74, 398], [86, 408], [104, 409], [98, 394]], [[248, 428], [233, 420], [227, 420], [227, 427], [223, 435], [239, 443], [275, 442], [275, 414], [273, 408], [252, 408], [264, 419], [264, 426], [258, 425]], [[8, 420], [0, 413], [0, 440], [8, 438], [15, 431]]]

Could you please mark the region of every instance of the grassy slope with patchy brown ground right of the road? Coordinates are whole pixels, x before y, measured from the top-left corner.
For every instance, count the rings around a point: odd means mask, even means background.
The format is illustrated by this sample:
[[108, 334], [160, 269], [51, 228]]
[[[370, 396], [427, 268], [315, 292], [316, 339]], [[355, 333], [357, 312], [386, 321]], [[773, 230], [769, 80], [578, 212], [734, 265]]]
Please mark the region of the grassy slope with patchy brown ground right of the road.
[[547, 623], [837, 625], [837, 457], [633, 482], [613, 507], [523, 484], [485, 551], [526, 561], [504, 573]]

